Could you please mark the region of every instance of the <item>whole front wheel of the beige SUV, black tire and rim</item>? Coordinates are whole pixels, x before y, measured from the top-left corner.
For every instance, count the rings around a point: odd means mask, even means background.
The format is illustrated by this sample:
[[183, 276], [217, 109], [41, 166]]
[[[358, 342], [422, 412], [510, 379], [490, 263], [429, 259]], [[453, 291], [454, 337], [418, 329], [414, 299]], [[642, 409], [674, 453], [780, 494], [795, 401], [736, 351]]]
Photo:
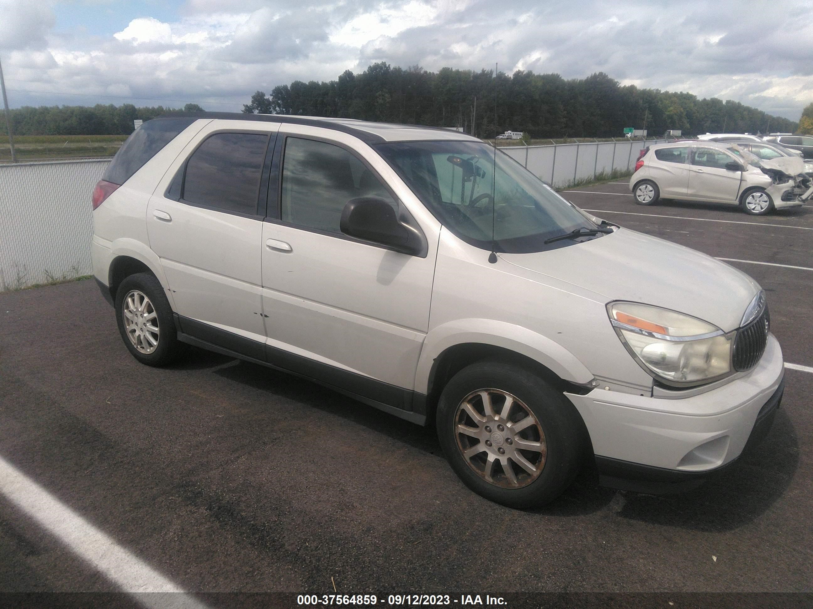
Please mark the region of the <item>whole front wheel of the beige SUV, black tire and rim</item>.
[[529, 370], [482, 361], [448, 382], [437, 437], [454, 472], [511, 508], [550, 503], [576, 477], [586, 431], [576, 408]]

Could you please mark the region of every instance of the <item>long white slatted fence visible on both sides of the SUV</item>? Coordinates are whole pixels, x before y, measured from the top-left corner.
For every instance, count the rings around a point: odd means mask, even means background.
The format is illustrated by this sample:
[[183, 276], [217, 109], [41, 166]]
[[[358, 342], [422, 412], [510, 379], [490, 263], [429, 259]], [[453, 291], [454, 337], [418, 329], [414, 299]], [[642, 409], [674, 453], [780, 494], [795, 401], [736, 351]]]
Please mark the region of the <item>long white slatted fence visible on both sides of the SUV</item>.
[[[631, 171], [646, 142], [513, 146], [501, 150], [556, 187]], [[91, 274], [90, 197], [110, 159], [0, 165], [0, 290]]]

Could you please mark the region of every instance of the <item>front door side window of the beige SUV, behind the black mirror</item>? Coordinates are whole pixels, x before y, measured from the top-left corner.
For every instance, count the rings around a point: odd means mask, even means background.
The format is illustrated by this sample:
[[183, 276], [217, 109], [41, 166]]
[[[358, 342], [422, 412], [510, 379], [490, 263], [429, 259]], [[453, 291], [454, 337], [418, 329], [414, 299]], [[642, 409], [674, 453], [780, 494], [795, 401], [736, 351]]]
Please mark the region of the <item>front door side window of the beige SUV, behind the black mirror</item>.
[[285, 141], [282, 220], [341, 233], [341, 212], [357, 197], [380, 197], [398, 209], [376, 175], [346, 149], [298, 137]]

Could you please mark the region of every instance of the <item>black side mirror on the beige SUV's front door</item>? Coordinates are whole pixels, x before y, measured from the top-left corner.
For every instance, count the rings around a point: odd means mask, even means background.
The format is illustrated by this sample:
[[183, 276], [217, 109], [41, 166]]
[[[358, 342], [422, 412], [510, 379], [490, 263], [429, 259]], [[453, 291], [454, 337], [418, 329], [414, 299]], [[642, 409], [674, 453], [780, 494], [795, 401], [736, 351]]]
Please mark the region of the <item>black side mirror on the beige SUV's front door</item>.
[[350, 237], [387, 245], [397, 252], [420, 255], [423, 242], [417, 231], [398, 221], [395, 209], [379, 197], [350, 199], [341, 212], [341, 232]]

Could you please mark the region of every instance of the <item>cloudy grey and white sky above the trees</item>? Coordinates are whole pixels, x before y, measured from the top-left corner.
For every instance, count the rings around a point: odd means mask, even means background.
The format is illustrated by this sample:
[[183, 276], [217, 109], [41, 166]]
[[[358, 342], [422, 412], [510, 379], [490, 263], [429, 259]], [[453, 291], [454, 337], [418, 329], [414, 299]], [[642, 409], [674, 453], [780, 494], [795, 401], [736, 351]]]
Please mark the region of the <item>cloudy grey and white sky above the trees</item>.
[[798, 120], [813, 0], [0, 0], [12, 107], [132, 102], [237, 111], [370, 63], [604, 71]]

